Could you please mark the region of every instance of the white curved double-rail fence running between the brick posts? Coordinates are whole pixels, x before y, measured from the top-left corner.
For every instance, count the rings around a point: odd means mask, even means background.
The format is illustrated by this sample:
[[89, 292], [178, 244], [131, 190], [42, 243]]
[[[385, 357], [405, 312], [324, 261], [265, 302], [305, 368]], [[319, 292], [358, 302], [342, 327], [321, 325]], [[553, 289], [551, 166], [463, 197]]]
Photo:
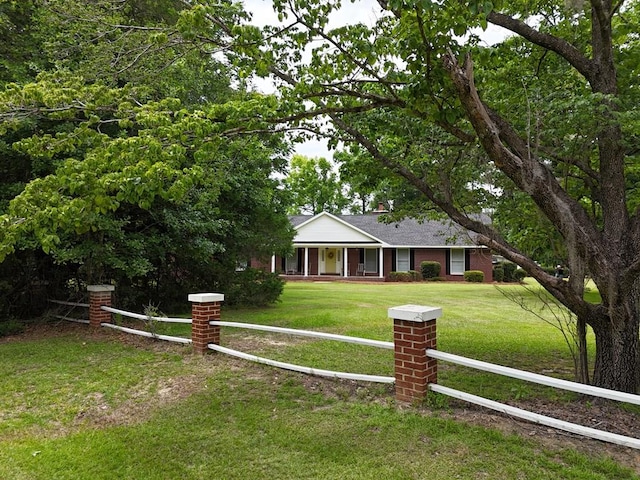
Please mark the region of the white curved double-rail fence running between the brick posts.
[[[52, 302], [59, 303], [62, 305], [72, 305], [72, 306], [80, 306], [80, 307], [89, 306], [87, 304], [72, 304], [71, 302], [61, 302], [61, 301], [52, 301]], [[126, 317], [136, 318], [140, 320], [152, 320], [152, 321], [158, 321], [158, 322], [171, 322], [171, 323], [191, 323], [192, 321], [190, 318], [186, 319], [186, 318], [155, 317], [155, 316], [127, 312], [125, 310], [119, 310], [116, 308], [111, 308], [106, 306], [102, 306], [101, 308], [107, 312], [119, 314]], [[66, 317], [60, 317], [60, 318], [64, 318], [65, 320], [71, 320], [71, 321], [79, 321], [77, 319], [70, 319]], [[82, 322], [85, 323], [84, 321]], [[88, 323], [88, 321], [86, 321], [86, 323]], [[309, 331], [309, 330], [296, 330], [292, 328], [272, 327], [268, 325], [256, 325], [256, 324], [240, 323], [240, 322], [211, 321], [209, 323], [210, 325], [217, 325], [220, 327], [235, 327], [235, 328], [262, 330], [267, 332], [283, 333], [288, 335], [299, 335], [299, 336], [306, 336], [306, 337], [319, 338], [319, 339], [325, 339], [325, 340], [335, 340], [340, 342], [354, 343], [354, 344], [366, 345], [366, 346], [383, 348], [383, 349], [390, 349], [390, 350], [394, 349], [393, 342], [384, 342], [384, 341], [372, 340], [372, 339], [366, 339], [366, 338], [350, 337], [346, 335], [336, 335], [332, 333], [316, 332], [316, 331]], [[102, 326], [120, 330], [126, 333], [132, 333], [135, 335], [157, 338], [160, 340], [168, 340], [168, 341], [179, 342], [179, 343], [191, 343], [191, 339], [188, 339], [188, 338], [174, 337], [170, 335], [158, 335], [158, 334], [143, 331], [143, 330], [136, 330], [133, 328], [114, 325], [111, 323], [102, 323]], [[209, 344], [209, 349], [215, 350], [221, 353], [225, 353], [227, 355], [242, 358], [245, 360], [250, 360], [257, 363], [262, 363], [265, 365], [270, 365], [270, 366], [297, 371], [301, 373], [306, 373], [310, 375], [317, 375], [317, 376], [330, 377], [330, 378], [343, 378], [343, 379], [356, 380], [356, 381], [377, 382], [377, 383], [394, 383], [395, 382], [394, 377], [365, 375], [365, 374], [356, 374], [356, 373], [347, 373], [347, 372], [336, 372], [331, 370], [322, 370], [322, 369], [316, 369], [311, 367], [304, 367], [301, 365], [295, 365], [291, 363], [271, 360], [264, 357], [258, 357], [256, 355], [247, 354], [238, 350], [233, 350], [233, 349], [222, 347], [220, 345], [215, 345], [215, 344]], [[548, 377], [545, 375], [539, 375], [536, 373], [525, 372], [523, 370], [517, 370], [510, 367], [504, 367], [501, 365], [482, 362], [479, 360], [473, 360], [470, 358], [461, 357], [459, 355], [453, 355], [450, 353], [445, 353], [445, 352], [441, 352], [439, 350], [434, 350], [434, 349], [427, 349], [426, 353], [427, 353], [427, 356], [435, 358], [437, 360], [450, 362], [450, 363], [462, 365], [465, 367], [475, 368], [477, 370], [481, 370], [489, 373], [495, 373], [498, 375], [516, 378], [519, 380], [525, 380], [528, 382], [538, 383], [541, 385], [555, 387], [562, 390], [568, 390], [568, 391], [580, 393], [583, 395], [605, 398], [609, 400], [616, 400], [619, 402], [630, 403], [634, 405], [640, 405], [640, 395], [618, 392], [615, 390], [607, 390], [604, 388], [593, 387], [591, 385], [585, 385], [581, 383], [570, 382], [567, 380]], [[489, 408], [512, 417], [521, 418], [532, 423], [538, 423], [540, 425], [556, 428], [558, 430], [567, 431], [577, 435], [594, 438], [597, 440], [614, 443], [614, 444], [622, 445], [625, 447], [640, 449], [640, 439], [638, 438], [627, 437], [624, 435], [618, 435], [618, 434], [606, 432], [603, 430], [597, 430], [597, 429], [586, 427], [583, 425], [565, 422], [553, 417], [548, 417], [545, 415], [540, 415], [537, 413], [522, 410], [520, 408], [516, 408], [510, 405], [506, 405], [500, 402], [489, 400], [483, 397], [479, 397], [477, 395], [472, 395], [472, 394], [455, 390], [452, 388], [444, 387], [442, 385], [438, 385], [435, 383], [429, 384], [429, 390], [440, 393], [442, 395], [457, 398], [459, 400], [463, 400], [469, 403], [473, 403], [475, 405], [480, 405], [482, 407]]]

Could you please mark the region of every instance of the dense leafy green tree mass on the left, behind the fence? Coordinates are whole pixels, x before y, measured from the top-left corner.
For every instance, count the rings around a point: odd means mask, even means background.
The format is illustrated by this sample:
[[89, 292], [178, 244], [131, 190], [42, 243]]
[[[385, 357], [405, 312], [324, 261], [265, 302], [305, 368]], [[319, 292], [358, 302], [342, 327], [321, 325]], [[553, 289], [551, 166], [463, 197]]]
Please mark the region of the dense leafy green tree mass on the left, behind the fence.
[[85, 4], [34, 3], [24, 23], [52, 71], [0, 92], [0, 310], [34, 283], [116, 282], [138, 308], [224, 291], [290, 245], [272, 177], [288, 145], [255, 118], [276, 103], [167, 33], [180, 2]]

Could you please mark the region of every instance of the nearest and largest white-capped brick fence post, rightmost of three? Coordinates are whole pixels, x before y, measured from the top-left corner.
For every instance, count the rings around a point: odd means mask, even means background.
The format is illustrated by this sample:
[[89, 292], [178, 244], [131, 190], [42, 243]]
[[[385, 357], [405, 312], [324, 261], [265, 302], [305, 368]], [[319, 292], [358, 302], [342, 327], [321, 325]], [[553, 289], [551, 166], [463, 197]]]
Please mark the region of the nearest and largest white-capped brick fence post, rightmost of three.
[[438, 365], [427, 356], [436, 348], [436, 319], [442, 309], [402, 305], [389, 309], [393, 319], [396, 400], [417, 403], [427, 397], [429, 383], [437, 383]]

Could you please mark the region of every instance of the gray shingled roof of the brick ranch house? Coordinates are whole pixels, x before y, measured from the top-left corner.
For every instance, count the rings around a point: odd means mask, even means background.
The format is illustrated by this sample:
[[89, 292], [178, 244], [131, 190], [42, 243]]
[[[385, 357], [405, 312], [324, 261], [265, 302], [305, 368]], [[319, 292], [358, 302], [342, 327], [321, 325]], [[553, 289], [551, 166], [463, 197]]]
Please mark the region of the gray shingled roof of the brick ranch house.
[[[460, 227], [452, 221], [425, 220], [418, 222], [406, 218], [390, 224], [382, 223], [379, 215], [336, 215], [337, 218], [352, 225], [369, 235], [393, 246], [406, 247], [443, 247], [458, 246], [472, 247], [477, 243], [473, 240], [473, 232]], [[294, 227], [313, 218], [310, 215], [295, 215], [289, 217]]]

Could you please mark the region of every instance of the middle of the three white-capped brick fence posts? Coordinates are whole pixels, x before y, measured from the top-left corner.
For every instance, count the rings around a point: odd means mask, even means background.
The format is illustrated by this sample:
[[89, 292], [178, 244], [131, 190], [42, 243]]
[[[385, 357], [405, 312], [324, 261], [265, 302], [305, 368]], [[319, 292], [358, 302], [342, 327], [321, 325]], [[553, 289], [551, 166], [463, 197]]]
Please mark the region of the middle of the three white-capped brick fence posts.
[[220, 345], [220, 327], [209, 325], [212, 320], [220, 320], [220, 304], [224, 301], [221, 293], [192, 293], [191, 343], [195, 353], [205, 354], [210, 343]]

